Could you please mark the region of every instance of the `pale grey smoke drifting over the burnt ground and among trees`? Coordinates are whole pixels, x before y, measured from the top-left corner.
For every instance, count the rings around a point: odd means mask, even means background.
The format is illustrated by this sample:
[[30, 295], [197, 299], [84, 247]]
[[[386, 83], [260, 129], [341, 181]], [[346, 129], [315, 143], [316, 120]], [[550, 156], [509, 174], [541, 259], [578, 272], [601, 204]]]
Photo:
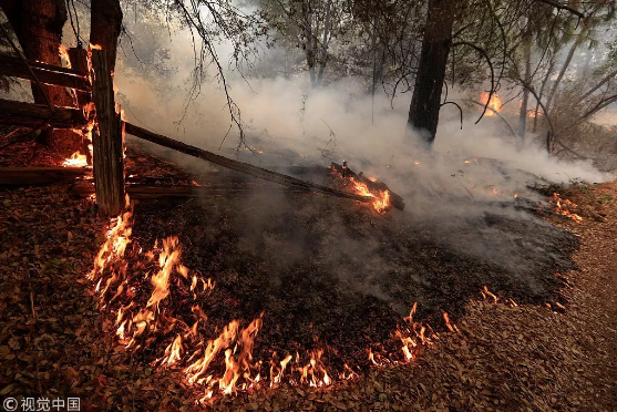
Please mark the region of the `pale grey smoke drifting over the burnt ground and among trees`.
[[[142, 35], [145, 28], [138, 25], [130, 24]], [[152, 31], [152, 27], [147, 30]], [[474, 124], [477, 107], [464, 107], [461, 130], [457, 110], [444, 106], [434, 151], [426, 153], [421, 144], [403, 140], [410, 94], [391, 99], [378, 92], [373, 97], [366, 82], [357, 78], [311, 90], [304, 73], [285, 78], [226, 71], [249, 146], [238, 148], [239, 136], [230, 126], [226, 97], [214, 68], [209, 71], [210, 81], [199, 84], [198, 94], [195, 93], [189, 35], [178, 31], [153, 33], [152, 38], [160, 43], [142, 43], [143, 50], [134, 45], [136, 54], [164, 55], [162, 63], [171, 70], [144, 71], [131, 52], [120, 56], [114, 81], [128, 121], [263, 167], [327, 166], [345, 159], [356, 172], [384, 181], [404, 198], [404, 213], [393, 212], [379, 223], [362, 215], [362, 224], [370, 225], [352, 228], [352, 212], [346, 209], [346, 205], [353, 205], [349, 200], [313, 196], [302, 203], [284, 195], [261, 197], [250, 207], [250, 218], [241, 219], [235, 230], [240, 234], [239, 254], [260, 250], [260, 258], [269, 261], [272, 274], [308, 265], [308, 258], [316, 259], [316, 267], [333, 274], [351, 289], [404, 311], [410, 297], [422, 297], [419, 291], [409, 292], [401, 302], [397, 282], [411, 282], [424, 292], [441, 288], [430, 278], [441, 269], [422, 264], [434, 249], [435, 258], [460, 265], [466, 265], [462, 257], [472, 259], [482, 270], [502, 274], [495, 276], [506, 279], [503, 282], [516, 284], [514, 289], [541, 296], [546, 286], [543, 272], [567, 267], [564, 256], [572, 248], [561, 230], [515, 210], [514, 197], [543, 200], [527, 188], [537, 183], [595, 183], [610, 178], [590, 162], [549, 156], [539, 137], [522, 143], [497, 117]], [[219, 56], [229, 51], [228, 44], [218, 45]], [[296, 50], [265, 51], [260, 71], [280, 72], [276, 62], [281, 53], [301, 58]], [[269, 58], [276, 64], [268, 63]], [[189, 95], [192, 100], [187, 100]], [[451, 100], [464, 97], [463, 92], [450, 93]], [[196, 175], [217, 168], [179, 154], [165, 152], [165, 156]], [[392, 241], [400, 245], [384, 246]], [[414, 260], [415, 254], [424, 260]], [[459, 270], [457, 266], [446, 267]], [[384, 276], [390, 278], [385, 284]], [[449, 281], [450, 287], [457, 288], [463, 279]]]

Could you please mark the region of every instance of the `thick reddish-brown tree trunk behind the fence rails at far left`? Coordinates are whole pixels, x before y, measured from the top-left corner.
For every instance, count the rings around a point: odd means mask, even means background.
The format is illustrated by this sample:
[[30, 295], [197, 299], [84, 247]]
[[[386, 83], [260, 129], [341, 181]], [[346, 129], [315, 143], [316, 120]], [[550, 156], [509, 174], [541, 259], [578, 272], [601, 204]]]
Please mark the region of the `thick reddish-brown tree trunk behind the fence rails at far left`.
[[[59, 47], [66, 22], [64, 0], [0, 0], [0, 7], [28, 60], [61, 65]], [[70, 107], [75, 104], [64, 87], [43, 85], [41, 90], [34, 82], [31, 84], [34, 103], [47, 104], [43, 94], [47, 93], [54, 106]], [[80, 148], [82, 136], [69, 130], [47, 128], [39, 141], [69, 156]]]

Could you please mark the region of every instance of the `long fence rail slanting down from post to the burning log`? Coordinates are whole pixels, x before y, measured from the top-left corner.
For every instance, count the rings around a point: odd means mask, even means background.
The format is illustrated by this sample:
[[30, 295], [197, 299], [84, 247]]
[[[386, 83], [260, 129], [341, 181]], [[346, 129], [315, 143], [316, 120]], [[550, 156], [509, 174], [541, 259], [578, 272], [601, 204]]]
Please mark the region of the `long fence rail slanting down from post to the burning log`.
[[300, 188], [300, 189], [307, 190], [307, 192], [322, 193], [322, 194], [326, 194], [326, 195], [350, 198], [350, 199], [362, 202], [362, 203], [372, 203], [373, 202], [373, 198], [369, 197], [369, 196], [360, 196], [360, 195], [356, 195], [356, 194], [348, 193], [348, 192], [337, 190], [337, 189], [333, 189], [331, 187], [317, 185], [317, 184], [313, 184], [313, 183], [310, 183], [310, 182], [301, 181], [301, 179], [296, 178], [296, 177], [287, 176], [287, 175], [284, 175], [284, 174], [280, 174], [280, 173], [277, 173], [277, 172], [271, 172], [271, 171], [267, 171], [267, 169], [261, 168], [261, 167], [249, 165], [247, 163], [234, 161], [234, 159], [217, 155], [215, 153], [204, 151], [202, 148], [188, 145], [186, 143], [174, 141], [173, 138], [169, 138], [167, 136], [163, 136], [163, 135], [146, 131], [145, 128], [142, 128], [140, 126], [135, 126], [134, 124], [131, 124], [131, 123], [127, 123], [127, 122], [124, 123], [124, 126], [125, 126], [125, 132], [127, 134], [131, 134], [131, 135], [135, 136], [135, 137], [142, 138], [144, 141], [148, 141], [148, 142], [152, 142], [152, 143], [156, 143], [161, 146], [168, 147], [168, 148], [175, 150], [177, 152], [187, 154], [189, 156], [198, 157], [198, 158], [202, 158], [204, 161], [212, 162], [212, 163], [215, 163], [217, 165], [230, 168], [233, 171], [237, 171], [237, 172], [248, 174], [250, 176], [259, 177], [259, 178], [270, 181], [270, 182], [275, 182], [275, 183], [278, 183], [278, 184], [281, 184], [281, 185], [286, 185], [286, 186]]

